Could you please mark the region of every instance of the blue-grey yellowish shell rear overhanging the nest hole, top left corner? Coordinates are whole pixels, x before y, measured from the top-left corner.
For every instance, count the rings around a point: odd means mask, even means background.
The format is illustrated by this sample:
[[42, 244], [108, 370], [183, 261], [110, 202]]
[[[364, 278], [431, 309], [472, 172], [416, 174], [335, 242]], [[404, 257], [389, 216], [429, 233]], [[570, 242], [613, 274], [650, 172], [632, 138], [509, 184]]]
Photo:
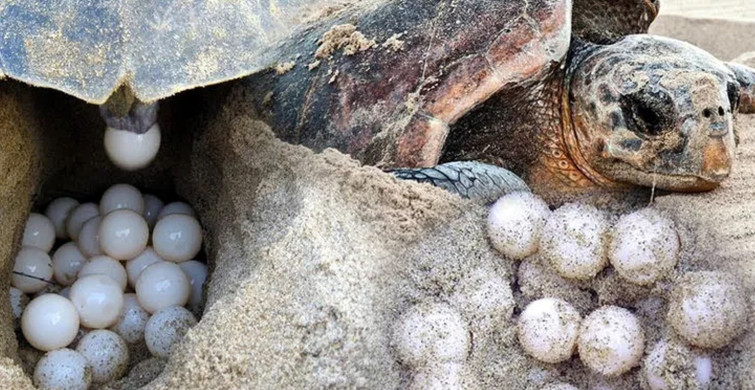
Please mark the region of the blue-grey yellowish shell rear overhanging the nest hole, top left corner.
[[0, 0], [0, 78], [104, 103], [141, 101], [258, 71], [270, 48], [339, 0]]

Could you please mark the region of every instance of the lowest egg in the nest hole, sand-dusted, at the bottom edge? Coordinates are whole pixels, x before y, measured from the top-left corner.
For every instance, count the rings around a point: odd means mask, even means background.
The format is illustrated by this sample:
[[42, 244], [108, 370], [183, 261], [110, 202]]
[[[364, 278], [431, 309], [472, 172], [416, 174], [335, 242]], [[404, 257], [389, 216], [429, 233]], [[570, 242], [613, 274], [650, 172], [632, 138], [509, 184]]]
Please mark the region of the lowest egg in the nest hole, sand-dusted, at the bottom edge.
[[87, 390], [91, 384], [92, 366], [72, 349], [46, 353], [34, 369], [34, 386], [41, 390]]

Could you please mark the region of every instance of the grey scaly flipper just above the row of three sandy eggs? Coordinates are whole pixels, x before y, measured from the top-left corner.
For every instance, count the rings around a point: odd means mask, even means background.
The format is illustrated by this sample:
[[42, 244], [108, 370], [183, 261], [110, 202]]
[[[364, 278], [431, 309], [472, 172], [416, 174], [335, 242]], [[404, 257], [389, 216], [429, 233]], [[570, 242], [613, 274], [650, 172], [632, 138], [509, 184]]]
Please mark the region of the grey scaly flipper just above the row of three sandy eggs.
[[388, 171], [403, 180], [430, 183], [462, 198], [491, 203], [515, 191], [530, 191], [527, 184], [508, 169], [476, 161], [454, 161], [430, 168]]

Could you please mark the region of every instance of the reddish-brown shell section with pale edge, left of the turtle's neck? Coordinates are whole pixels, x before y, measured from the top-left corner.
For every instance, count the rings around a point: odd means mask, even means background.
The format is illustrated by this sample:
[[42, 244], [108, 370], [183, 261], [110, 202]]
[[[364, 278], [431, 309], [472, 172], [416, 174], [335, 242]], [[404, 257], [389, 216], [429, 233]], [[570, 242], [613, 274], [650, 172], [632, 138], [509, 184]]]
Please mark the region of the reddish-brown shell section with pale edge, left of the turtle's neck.
[[[438, 162], [450, 124], [563, 60], [570, 1], [390, 1], [291, 40], [282, 58], [312, 53], [328, 29], [346, 22], [375, 46], [337, 51], [312, 70], [251, 76], [245, 83], [253, 104], [283, 140], [335, 147], [382, 168], [428, 167]], [[383, 47], [394, 35], [401, 46]]]

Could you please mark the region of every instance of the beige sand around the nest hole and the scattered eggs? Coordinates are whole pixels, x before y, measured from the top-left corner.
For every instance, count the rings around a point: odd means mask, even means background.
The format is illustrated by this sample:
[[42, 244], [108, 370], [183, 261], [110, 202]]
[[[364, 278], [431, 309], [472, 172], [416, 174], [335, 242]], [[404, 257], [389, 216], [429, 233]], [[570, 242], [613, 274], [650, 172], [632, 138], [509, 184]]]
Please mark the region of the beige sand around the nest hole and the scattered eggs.
[[[80, 140], [85, 146], [78, 156], [54, 154], [60, 149], [56, 137], [66, 133], [35, 122], [38, 113], [28, 108], [35, 98], [19, 84], [0, 85], [0, 172], [7, 175], [0, 186], [0, 385], [10, 389], [31, 388], [6, 294], [12, 253], [32, 202], [44, 203], [54, 189], [98, 193], [107, 182], [125, 180], [93, 176], [105, 164], [68, 170], [84, 158], [102, 161], [96, 137]], [[167, 115], [179, 103], [169, 103]], [[96, 118], [92, 107], [71, 107]], [[391, 344], [396, 321], [412, 305], [442, 302], [458, 311], [470, 332], [470, 354], [460, 371], [464, 388], [568, 382], [582, 389], [637, 389], [638, 369], [605, 379], [576, 357], [549, 365], [525, 356], [515, 335], [517, 313], [545, 295], [569, 300], [583, 316], [602, 304], [632, 307], [650, 346], [670, 337], [663, 298], [685, 271], [731, 271], [752, 296], [755, 117], [740, 118], [737, 169], [722, 188], [655, 198], [677, 225], [682, 257], [674, 273], [651, 289], [632, 287], [610, 270], [574, 283], [537, 256], [504, 259], [487, 243], [483, 205], [395, 180], [336, 151], [315, 154], [285, 144], [254, 117], [243, 93], [233, 91], [183, 123], [180, 136], [166, 129], [168, 157], [135, 179], [166, 191], [160, 183], [175, 179], [177, 192], [203, 222], [212, 275], [202, 319], [173, 356], [139, 363], [110, 388], [405, 387], [412, 371], [397, 361]], [[70, 182], [56, 181], [60, 172], [70, 173]], [[31, 194], [37, 193], [35, 199]], [[712, 388], [755, 389], [755, 332], [747, 331], [712, 352]]]

